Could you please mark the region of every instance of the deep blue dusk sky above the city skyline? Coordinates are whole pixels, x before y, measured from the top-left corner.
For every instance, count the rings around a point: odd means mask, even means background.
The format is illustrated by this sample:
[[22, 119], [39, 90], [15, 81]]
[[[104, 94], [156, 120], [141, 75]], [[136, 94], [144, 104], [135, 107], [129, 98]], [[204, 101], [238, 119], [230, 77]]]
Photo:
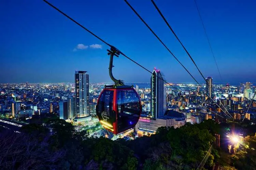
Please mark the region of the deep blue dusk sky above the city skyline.
[[[168, 82], [194, 82], [124, 1], [49, 2], [147, 69], [160, 69]], [[203, 82], [151, 1], [129, 2]], [[155, 2], [204, 76], [221, 82], [194, 0]], [[224, 82], [256, 82], [256, 1], [197, 0], [197, 4]], [[75, 70], [88, 71], [90, 82], [110, 82], [108, 47], [45, 2], [3, 0], [0, 21], [0, 83], [73, 82]], [[114, 58], [114, 65], [117, 79], [150, 82], [150, 73], [123, 56]]]

